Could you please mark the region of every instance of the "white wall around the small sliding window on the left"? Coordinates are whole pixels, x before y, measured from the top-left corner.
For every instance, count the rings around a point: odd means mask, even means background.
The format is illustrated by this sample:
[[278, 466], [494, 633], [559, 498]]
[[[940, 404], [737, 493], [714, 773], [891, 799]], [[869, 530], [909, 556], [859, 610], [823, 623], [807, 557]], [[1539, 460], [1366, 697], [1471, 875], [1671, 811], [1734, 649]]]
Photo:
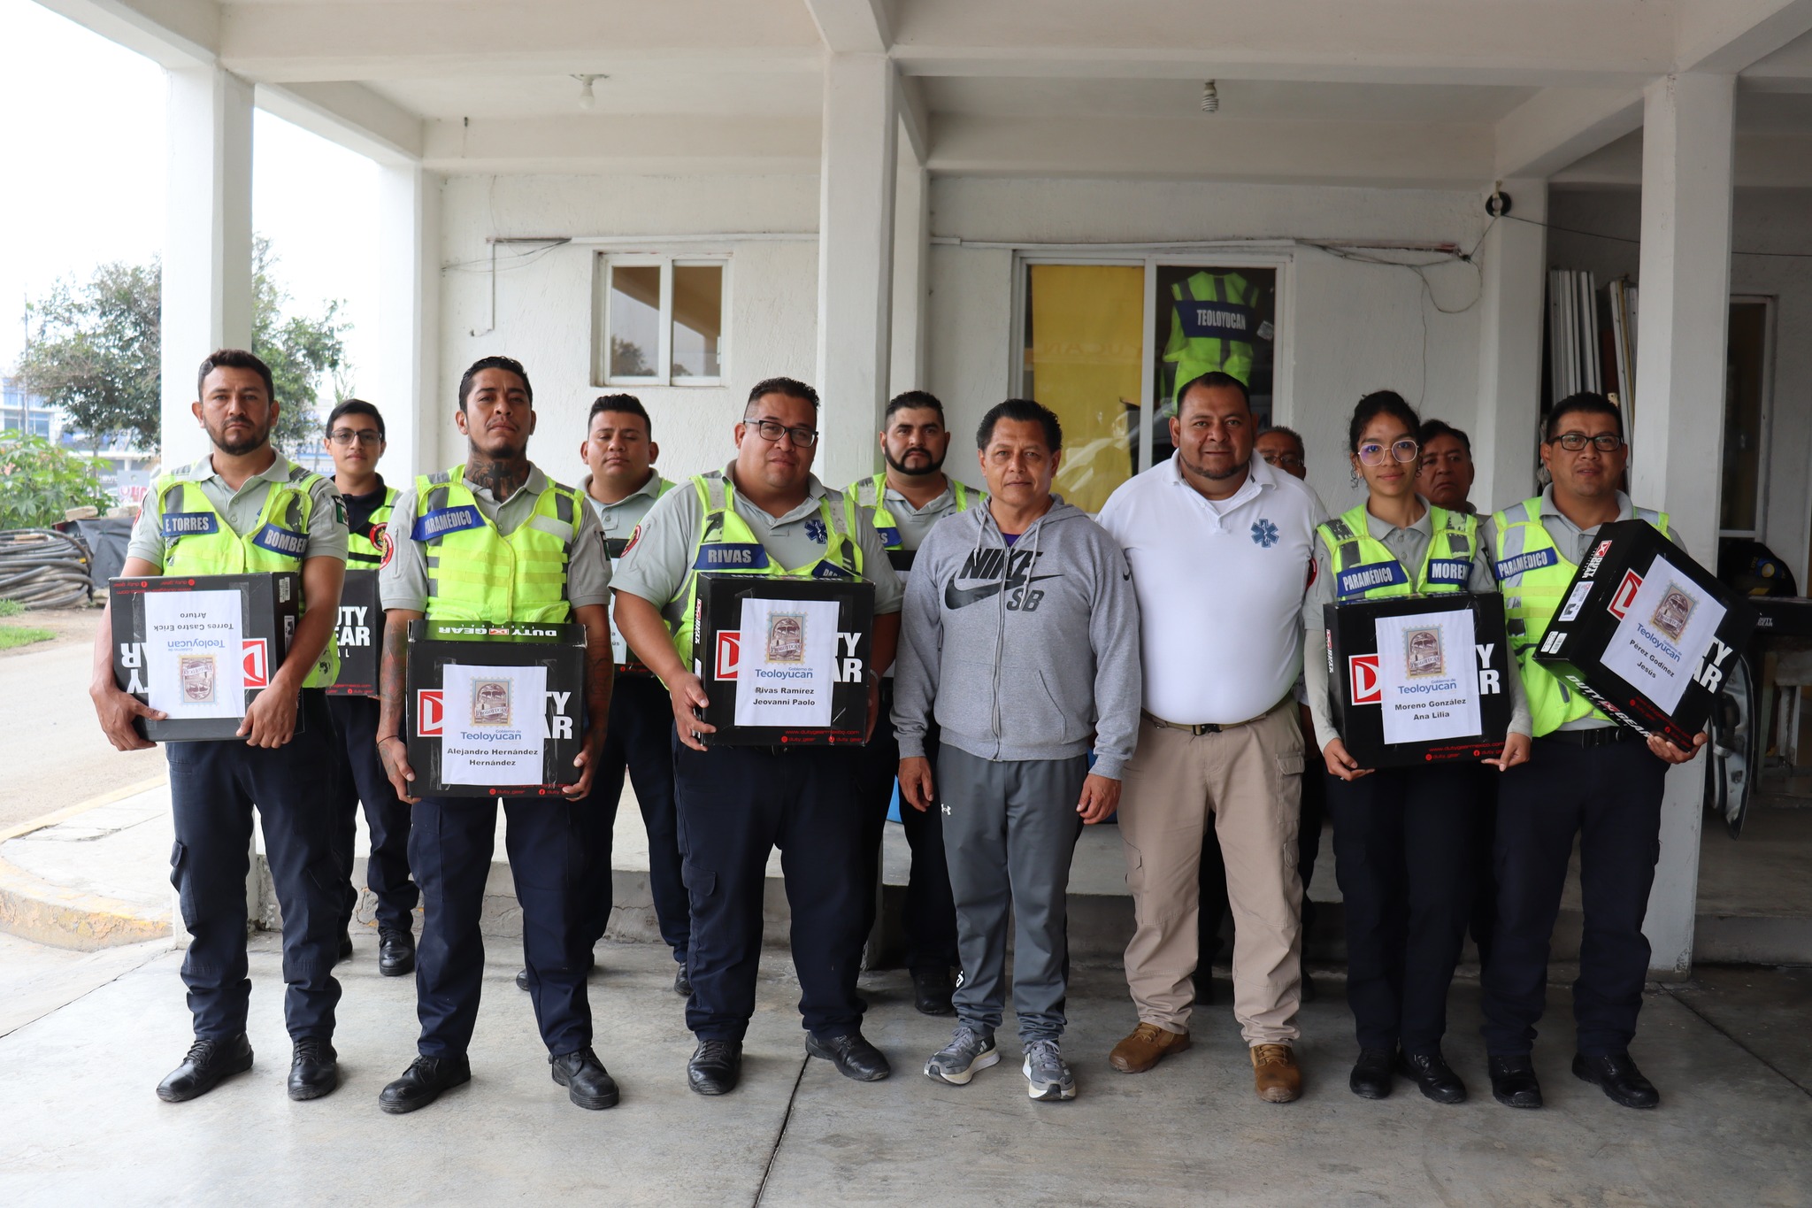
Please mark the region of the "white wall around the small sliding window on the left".
[[[554, 478], [585, 473], [578, 446], [591, 400], [627, 389], [647, 404], [669, 478], [723, 465], [748, 388], [774, 375], [812, 380], [817, 359], [817, 244], [748, 239], [707, 248], [667, 235], [810, 234], [815, 176], [455, 176], [442, 194], [440, 400], [422, 424], [429, 465], [464, 456], [453, 427], [460, 373], [478, 357], [522, 360], [535, 384], [538, 429], [529, 456]], [[591, 380], [596, 246], [533, 255], [498, 248], [491, 321], [491, 235], [651, 235], [636, 250], [703, 255], [727, 250], [725, 386], [611, 388]], [[478, 335], [473, 335], [473, 333]], [[826, 415], [826, 422], [834, 417]], [[422, 469], [422, 467], [417, 467]]]

